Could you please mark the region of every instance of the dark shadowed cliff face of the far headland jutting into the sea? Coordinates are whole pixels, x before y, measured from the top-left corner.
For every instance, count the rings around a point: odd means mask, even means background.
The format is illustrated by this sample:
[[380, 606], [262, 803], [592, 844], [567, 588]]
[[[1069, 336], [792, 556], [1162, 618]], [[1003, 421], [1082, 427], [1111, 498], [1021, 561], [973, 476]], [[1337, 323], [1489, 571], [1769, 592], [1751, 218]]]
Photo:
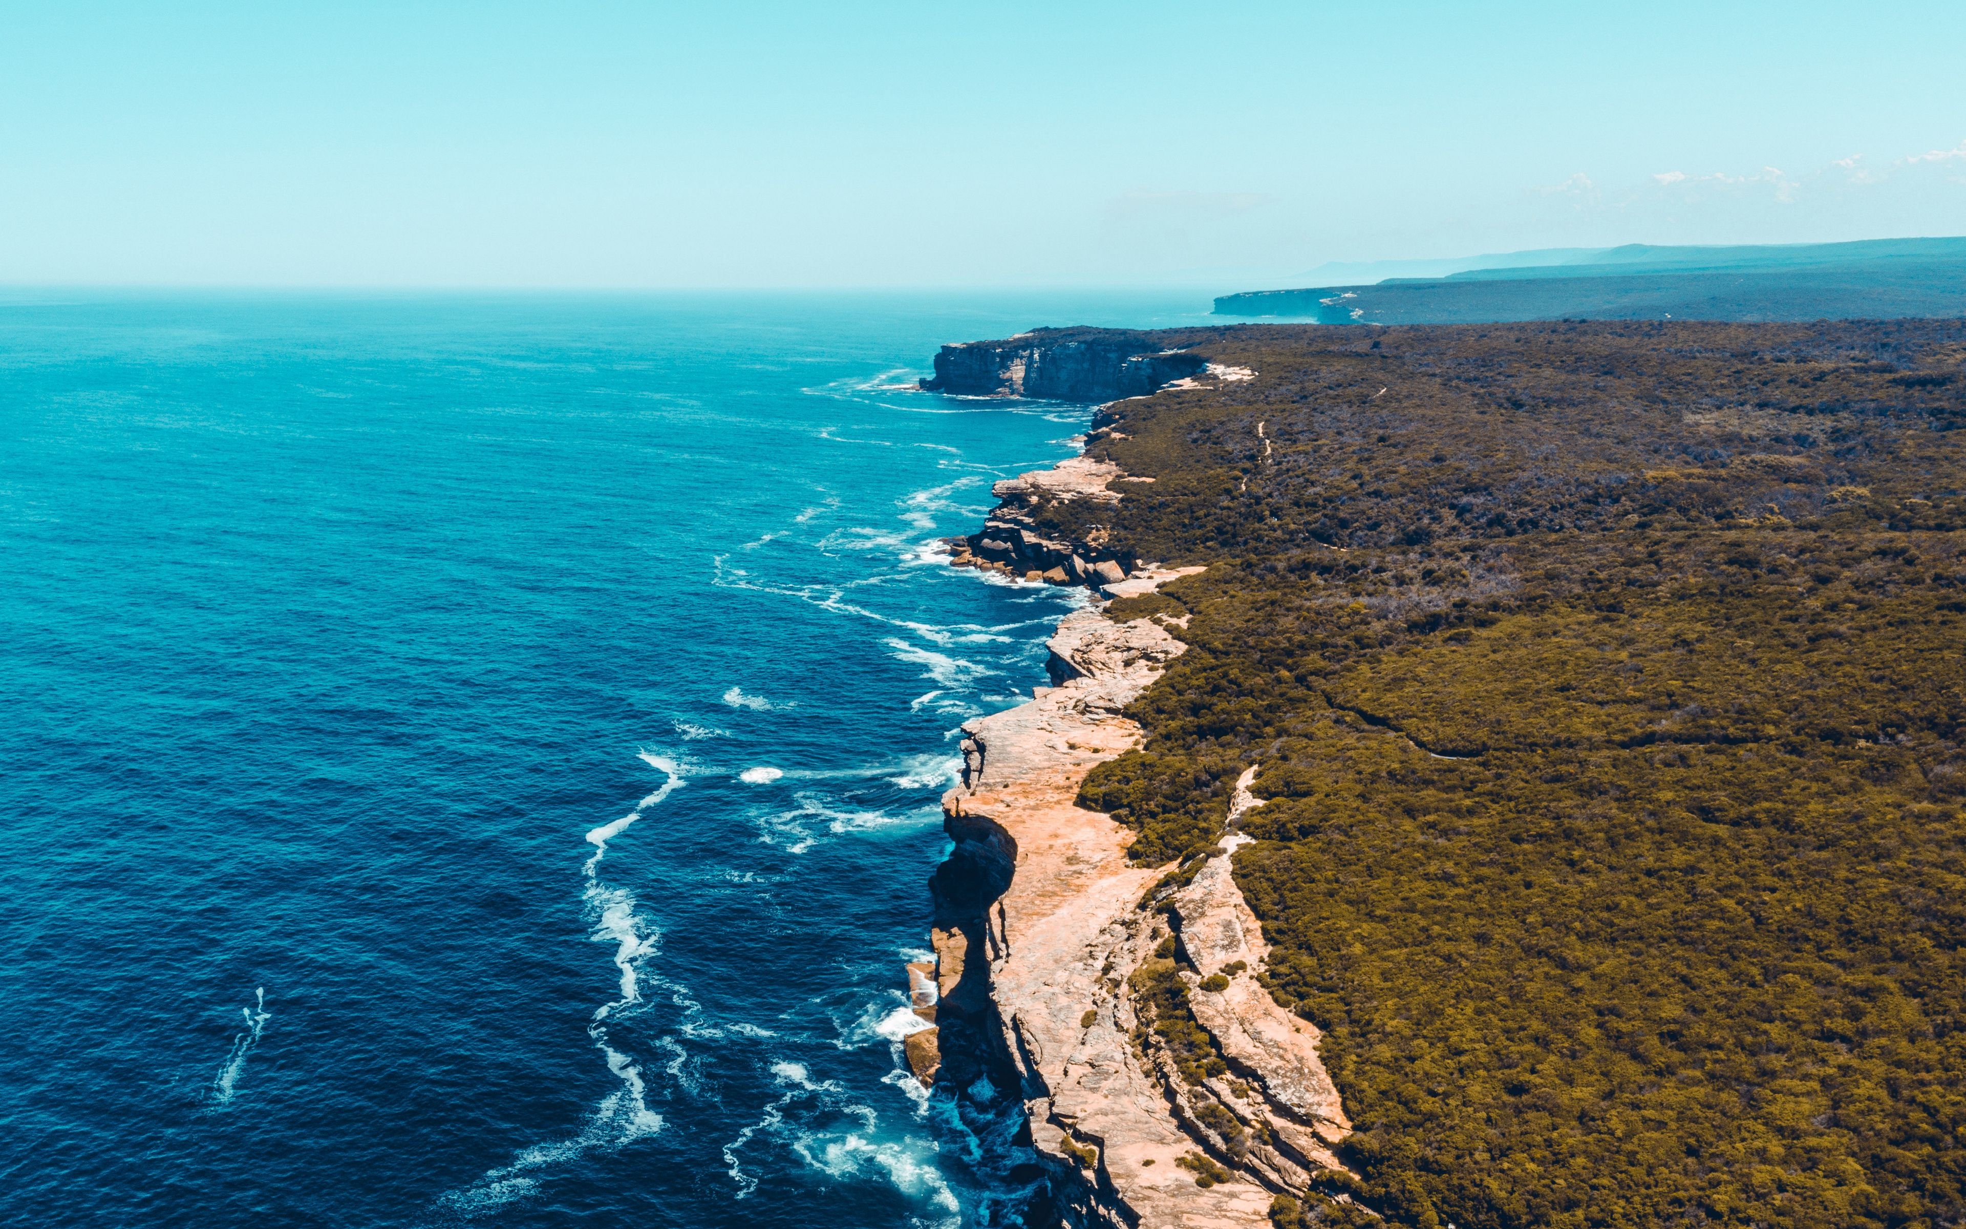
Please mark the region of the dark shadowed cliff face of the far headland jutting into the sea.
[[1036, 328], [1001, 342], [944, 346], [932, 393], [971, 397], [1040, 397], [1046, 401], [1117, 401], [1144, 397], [1201, 372], [1207, 362], [1164, 352], [1144, 332], [1123, 328]]

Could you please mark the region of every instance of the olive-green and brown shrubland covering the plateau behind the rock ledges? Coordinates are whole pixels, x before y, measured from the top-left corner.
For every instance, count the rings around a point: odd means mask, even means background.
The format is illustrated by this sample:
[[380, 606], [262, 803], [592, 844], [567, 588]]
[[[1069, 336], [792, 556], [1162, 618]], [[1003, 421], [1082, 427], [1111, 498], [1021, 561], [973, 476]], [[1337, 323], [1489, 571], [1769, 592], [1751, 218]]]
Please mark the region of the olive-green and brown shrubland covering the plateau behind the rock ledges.
[[1235, 875], [1359, 1200], [1966, 1219], [1966, 324], [1156, 340], [1258, 376], [1119, 403], [1156, 482], [1044, 513], [1209, 564], [1125, 610], [1189, 651], [1081, 800], [1193, 857], [1262, 765]]

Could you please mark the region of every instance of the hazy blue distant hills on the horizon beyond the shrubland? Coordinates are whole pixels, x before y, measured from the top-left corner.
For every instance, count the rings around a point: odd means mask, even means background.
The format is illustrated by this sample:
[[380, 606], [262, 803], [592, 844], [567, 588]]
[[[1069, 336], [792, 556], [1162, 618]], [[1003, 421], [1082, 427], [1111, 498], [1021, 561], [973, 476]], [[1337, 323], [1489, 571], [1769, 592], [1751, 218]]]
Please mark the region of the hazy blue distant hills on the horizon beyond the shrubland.
[[1315, 269], [1339, 271], [1410, 275], [1223, 295], [1215, 315], [1321, 324], [1966, 317], [1966, 238], [1543, 248]]

